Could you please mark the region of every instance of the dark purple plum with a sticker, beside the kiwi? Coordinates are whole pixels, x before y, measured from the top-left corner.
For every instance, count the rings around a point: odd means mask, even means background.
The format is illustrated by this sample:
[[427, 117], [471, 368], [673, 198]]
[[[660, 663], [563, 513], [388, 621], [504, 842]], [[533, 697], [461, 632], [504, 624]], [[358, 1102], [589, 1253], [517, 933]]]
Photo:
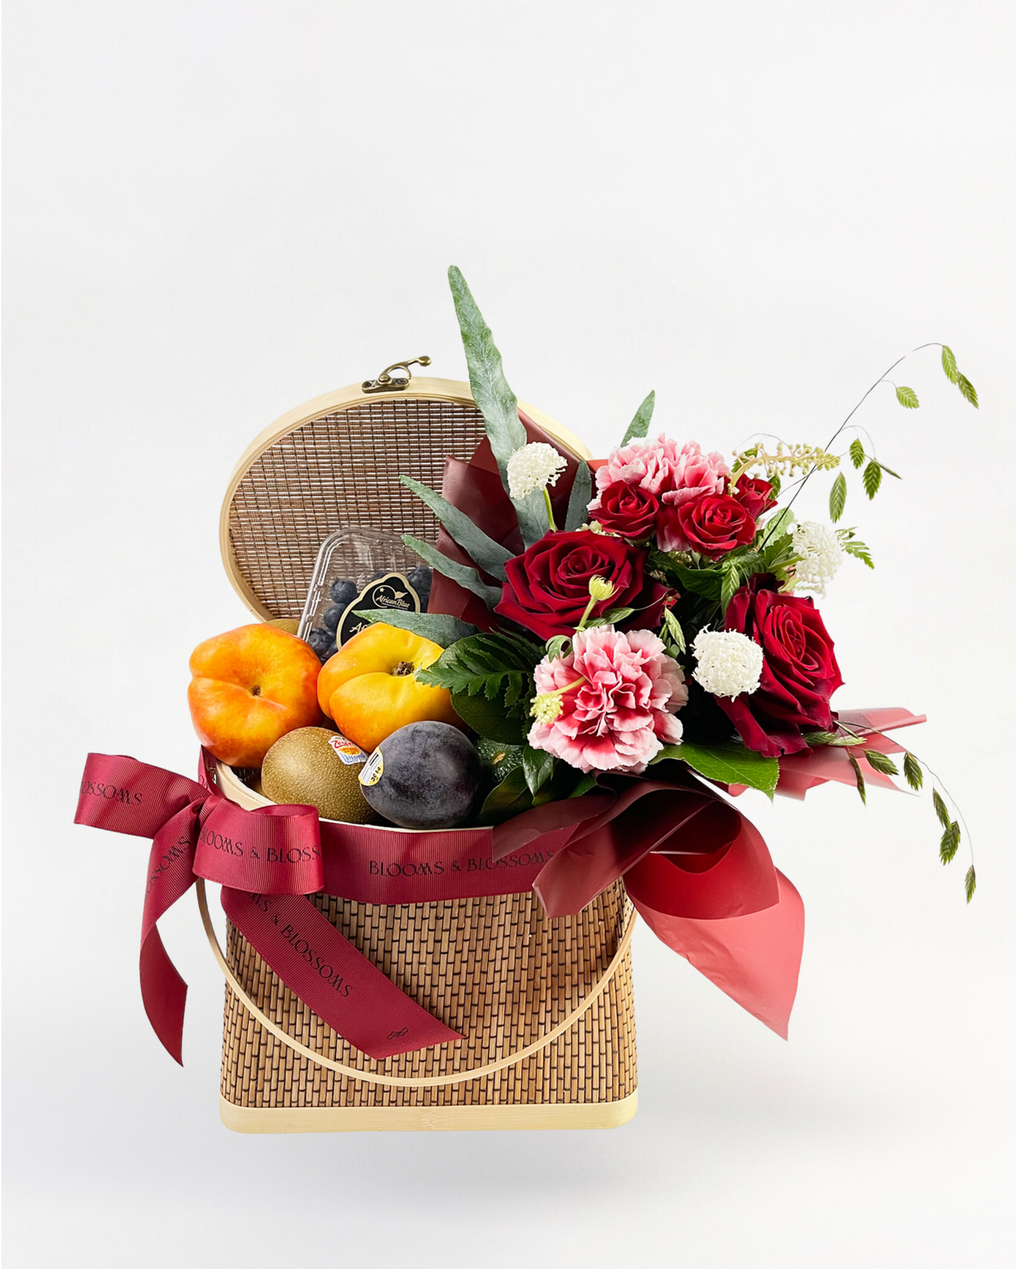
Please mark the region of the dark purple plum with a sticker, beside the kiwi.
[[363, 775], [370, 778], [378, 754], [377, 783], [361, 786], [378, 815], [403, 829], [455, 829], [470, 819], [481, 792], [483, 765], [457, 727], [446, 722], [400, 727], [381, 741]]

